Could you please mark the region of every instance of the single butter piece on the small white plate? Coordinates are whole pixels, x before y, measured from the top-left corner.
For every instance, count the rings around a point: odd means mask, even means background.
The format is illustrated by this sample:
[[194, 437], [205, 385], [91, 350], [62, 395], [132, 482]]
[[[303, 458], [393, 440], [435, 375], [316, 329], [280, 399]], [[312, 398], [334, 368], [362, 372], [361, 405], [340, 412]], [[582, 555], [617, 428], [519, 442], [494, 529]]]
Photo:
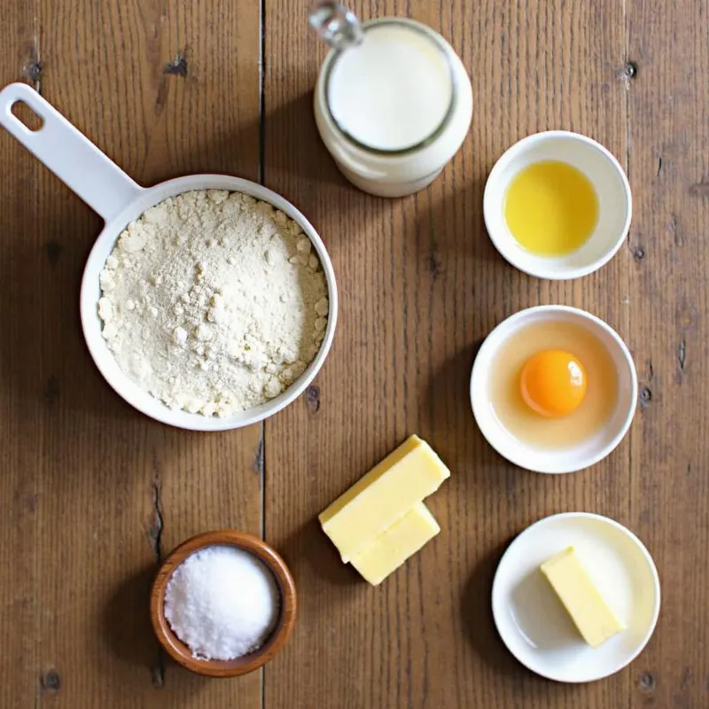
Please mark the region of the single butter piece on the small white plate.
[[573, 547], [560, 551], [540, 568], [581, 636], [592, 648], [625, 630], [625, 625], [588, 577]]

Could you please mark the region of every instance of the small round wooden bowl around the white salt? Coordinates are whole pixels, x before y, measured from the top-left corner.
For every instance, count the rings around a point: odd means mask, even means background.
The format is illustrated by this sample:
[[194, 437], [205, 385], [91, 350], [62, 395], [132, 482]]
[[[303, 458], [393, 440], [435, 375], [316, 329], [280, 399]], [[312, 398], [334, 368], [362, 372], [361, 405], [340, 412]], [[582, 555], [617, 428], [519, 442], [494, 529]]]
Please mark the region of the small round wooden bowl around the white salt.
[[[276, 627], [266, 643], [241, 658], [230, 660], [193, 658], [190, 648], [175, 635], [168, 619], [165, 618], [165, 589], [175, 569], [191, 554], [211, 546], [232, 546], [251, 552], [273, 573], [280, 591], [281, 606]], [[277, 551], [253, 534], [236, 532], [232, 529], [205, 532], [183, 541], [160, 566], [160, 571], [152, 584], [150, 601], [152, 627], [168, 655], [191, 672], [206, 674], [209, 677], [236, 677], [238, 674], [253, 672], [269, 662], [291, 635], [296, 607], [293, 577]]]

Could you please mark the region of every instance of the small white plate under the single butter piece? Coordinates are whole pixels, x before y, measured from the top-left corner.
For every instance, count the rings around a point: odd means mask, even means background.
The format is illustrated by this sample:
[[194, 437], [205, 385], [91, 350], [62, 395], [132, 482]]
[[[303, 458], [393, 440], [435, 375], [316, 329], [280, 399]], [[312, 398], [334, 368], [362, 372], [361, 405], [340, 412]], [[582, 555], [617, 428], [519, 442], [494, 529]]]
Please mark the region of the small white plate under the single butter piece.
[[[539, 566], [573, 546], [588, 575], [627, 628], [589, 647]], [[618, 672], [650, 640], [658, 621], [659, 579], [652, 557], [618, 522], [567, 512], [526, 528], [503, 554], [493, 582], [495, 625], [510, 652], [557, 682], [593, 682]]]

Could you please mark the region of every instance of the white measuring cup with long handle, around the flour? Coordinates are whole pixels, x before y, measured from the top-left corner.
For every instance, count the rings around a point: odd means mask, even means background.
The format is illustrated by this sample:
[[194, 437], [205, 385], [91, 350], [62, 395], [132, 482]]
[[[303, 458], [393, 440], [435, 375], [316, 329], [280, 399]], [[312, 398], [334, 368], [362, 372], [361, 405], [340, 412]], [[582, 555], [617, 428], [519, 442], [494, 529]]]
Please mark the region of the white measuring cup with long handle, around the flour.
[[[41, 129], [35, 131], [28, 129], [12, 114], [12, 105], [18, 101], [26, 103], [43, 119]], [[27, 84], [10, 84], [0, 91], [0, 124], [105, 220], [105, 227], [91, 249], [83, 272], [82, 328], [86, 344], [98, 370], [131, 406], [164, 424], [192, 431], [223, 431], [255, 424], [272, 416], [306, 389], [323, 366], [325, 357], [330, 351], [338, 316], [338, 293], [335, 272], [323, 241], [312, 224], [295, 206], [260, 184], [230, 175], [189, 175], [168, 180], [154, 187], [141, 187]], [[113, 250], [116, 238], [126, 225], [163, 199], [184, 191], [207, 189], [244, 192], [256, 199], [269, 202], [298, 222], [313, 242], [327, 279], [330, 298], [330, 313], [323, 343], [308, 369], [284, 393], [271, 401], [224, 418], [205, 417], [168, 409], [162, 401], [155, 399], [126, 377], [115, 361], [113, 353], [105, 344], [97, 314], [97, 302], [100, 297], [98, 275]]]

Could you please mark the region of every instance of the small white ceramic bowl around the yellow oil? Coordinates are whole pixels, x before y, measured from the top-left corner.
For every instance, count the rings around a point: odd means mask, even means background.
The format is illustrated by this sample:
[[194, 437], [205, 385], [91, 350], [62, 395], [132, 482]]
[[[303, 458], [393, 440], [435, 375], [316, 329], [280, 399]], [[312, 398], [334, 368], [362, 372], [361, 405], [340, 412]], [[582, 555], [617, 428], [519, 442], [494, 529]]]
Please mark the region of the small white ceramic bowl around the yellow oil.
[[[518, 244], [504, 219], [504, 197], [510, 180], [540, 160], [561, 160], [579, 168], [598, 196], [598, 223], [588, 241], [564, 256], [537, 256]], [[633, 200], [627, 176], [611, 152], [578, 133], [549, 130], [527, 136], [497, 160], [485, 185], [483, 214], [493, 244], [512, 266], [530, 276], [552, 280], [578, 278], [610, 261], [627, 237]]]

